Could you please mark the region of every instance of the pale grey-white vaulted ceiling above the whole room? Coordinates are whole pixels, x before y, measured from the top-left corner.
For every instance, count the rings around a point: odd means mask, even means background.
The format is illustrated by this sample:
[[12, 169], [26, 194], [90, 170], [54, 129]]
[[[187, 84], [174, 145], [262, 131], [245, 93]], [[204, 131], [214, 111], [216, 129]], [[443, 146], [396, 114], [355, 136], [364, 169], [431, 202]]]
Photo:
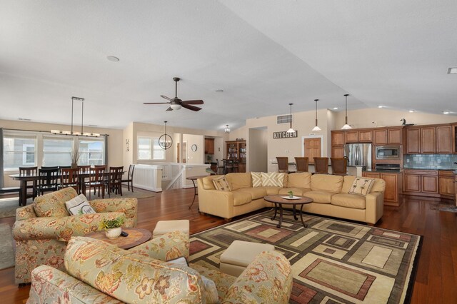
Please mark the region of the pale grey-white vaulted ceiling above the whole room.
[[[0, 119], [219, 130], [386, 106], [457, 112], [457, 1], [1, 0]], [[119, 57], [119, 62], [106, 59]], [[144, 102], [203, 99], [199, 112]], [[224, 90], [216, 92], [216, 90]]]

